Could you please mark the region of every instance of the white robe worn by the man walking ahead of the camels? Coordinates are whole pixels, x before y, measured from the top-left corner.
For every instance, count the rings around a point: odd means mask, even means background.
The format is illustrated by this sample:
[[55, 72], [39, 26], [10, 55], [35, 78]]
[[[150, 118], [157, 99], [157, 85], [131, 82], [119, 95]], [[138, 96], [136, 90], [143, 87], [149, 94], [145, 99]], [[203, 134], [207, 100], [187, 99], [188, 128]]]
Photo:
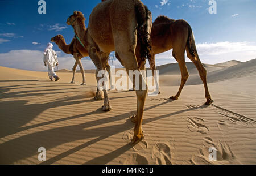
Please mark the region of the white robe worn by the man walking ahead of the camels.
[[46, 49], [44, 52], [44, 63], [48, 65], [48, 75], [49, 76], [56, 76], [54, 72], [54, 67], [58, 63], [57, 54], [53, 49]]

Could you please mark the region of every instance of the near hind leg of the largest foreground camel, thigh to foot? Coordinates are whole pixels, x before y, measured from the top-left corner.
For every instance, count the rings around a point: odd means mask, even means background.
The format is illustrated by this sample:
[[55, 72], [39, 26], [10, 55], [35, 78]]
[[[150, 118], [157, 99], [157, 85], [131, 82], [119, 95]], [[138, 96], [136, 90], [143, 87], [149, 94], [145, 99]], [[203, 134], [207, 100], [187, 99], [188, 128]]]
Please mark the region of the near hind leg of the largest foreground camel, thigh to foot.
[[[134, 127], [134, 136], [131, 140], [132, 144], [137, 144], [144, 138], [142, 132], [142, 118], [144, 103], [147, 95], [147, 84], [146, 79], [142, 76], [142, 72], [139, 69], [135, 55], [135, 48], [137, 46], [137, 34], [142, 33], [143, 35], [143, 33], [150, 33], [151, 31], [151, 13], [141, 1], [132, 1], [136, 2], [136, 5], [134, 4], [134, 10], [132, 8], [127, 8], [131, 7], [131, 1], [117, 2], [120, 3], [120, 6], [113, 6], [113, 11], [110, 12], [110, 16], [117, 16], [118, 14], [125, 13], [126, 15], [118, 16], [118, 18], [111, 18], [111, 23], [114, 24], [111, 25], [111, 27], [114, 38], [115, 51], [119, 55], [119, 59], [122, 65], [125, 66], [126, 70], [137, 71], [139, 73], [139, 77], [141, 78], [141, 81], [139, 81], [137, 87], [135, 85], [135, 88], [138, 88], [139, 86], [138, 90], [136, 90], [137, 120]], [[150, 23], [150, 25], [148, 23]], [[144, 28], [140, 28], [142, 25], [144, 25]], [[139, 27], [138, 31], [137, 26]], [[145, 36], [142, 37], [145, 39]], [[147, 47], [146, 44], [143, 46], [145, 46], [145, 48]]]

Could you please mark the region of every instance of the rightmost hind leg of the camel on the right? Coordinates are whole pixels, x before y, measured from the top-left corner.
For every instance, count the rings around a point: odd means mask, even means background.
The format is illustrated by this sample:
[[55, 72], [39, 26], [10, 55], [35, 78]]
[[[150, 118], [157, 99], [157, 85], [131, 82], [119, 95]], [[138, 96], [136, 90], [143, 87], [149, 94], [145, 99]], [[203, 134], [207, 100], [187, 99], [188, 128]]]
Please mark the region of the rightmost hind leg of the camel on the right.
[[201, 63], [200, 59], [199, 59], [199, 56], [196, 54], [195, 57], [193, 57], [190, 53], [189, 53], [189, 50], [188, 48], [186, 49], [187, 50], [187, 56], [189, 59], [191, 59], [191, 61], [194, 63], [194, 65], [196, 66], [198, 72], [199, 72], [199, 75], [200, 75], [200, 78], [201, 80], [203, 81], [204, 83], [204, 89], [205, 89], [205, 98], [207, 99], [207, 101], [205, 102], [205, 105], [209, 105], [209, 104], [212, 104], [213, 100], [212, 98], [210, 97], [210, 93], [209, 93], [209, 90], [208, 90], [208, 85], [207, 85], [207, 70], [205, 70], [203, 64]]

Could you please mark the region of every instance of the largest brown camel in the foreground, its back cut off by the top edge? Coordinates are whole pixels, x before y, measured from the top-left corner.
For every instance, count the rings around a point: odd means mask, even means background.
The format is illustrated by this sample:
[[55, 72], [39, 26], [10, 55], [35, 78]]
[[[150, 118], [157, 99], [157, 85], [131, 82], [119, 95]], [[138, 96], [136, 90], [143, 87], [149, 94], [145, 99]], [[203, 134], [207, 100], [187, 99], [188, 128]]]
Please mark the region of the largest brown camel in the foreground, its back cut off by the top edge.
[[[90, 14], [89, 27], [85, 28], [85, 18], [81, 12], [75, 11], [67, 19], [67, 24], [72, 25], [76, 35], [89, 52], [89, 56], [97, 67], [102, 70], [108, 55], [115, 51], [117, 59], [125, 66], [126, 71], [141, 70], [135, 55], [137, 40], [141, 40], [141, 57], [143, 60], [151, 59], [150, 55], [150, 32], [152, 26], [151, 12], [140, 0], [120, 1], [108, 0], [98, 4]], [[139, 59], [141, 60], [141, 59]], [[100, 78], [97, 76], [99, 83]], [[143, 138], [142, 117], [147, 88], [142, 89], [146, 84], [141, 74], [141, 81], [137, 95], [137, 115], [133, 117], [136, 121], [132, 144], [136, 144]], [[111, 109], [106, 89], [104, 92], [104, 106], [102, 110]], [[96, 100], [100, 97], [101, 91], [97, 89]]]

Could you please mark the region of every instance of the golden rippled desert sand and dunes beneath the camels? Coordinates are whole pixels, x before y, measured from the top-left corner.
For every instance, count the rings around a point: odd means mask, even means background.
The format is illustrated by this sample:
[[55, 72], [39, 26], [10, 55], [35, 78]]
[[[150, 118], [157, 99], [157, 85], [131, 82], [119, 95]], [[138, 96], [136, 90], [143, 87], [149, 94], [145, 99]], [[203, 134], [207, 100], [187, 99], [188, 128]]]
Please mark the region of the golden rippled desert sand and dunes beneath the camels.
[[[61, 62], [61, 61], [60, 61]], [[145, 138], [130, 144], [136, 111], [135, 92], [109, 91], [112, 111], [94, 101], [96, 79], [69, 84], [72, 74], [0, 67], [0, 164], [256, 164], [256, 59], [204, 65], [214, 100], [204, 105], [204, 87], [196, 68], [179, 100], [176, 63], [159, 66], [160, 91], [147, 96]], [[38, 161], [38, 148], [46, 161]], [[210, 147], [217, 161], [209, 161]]]

